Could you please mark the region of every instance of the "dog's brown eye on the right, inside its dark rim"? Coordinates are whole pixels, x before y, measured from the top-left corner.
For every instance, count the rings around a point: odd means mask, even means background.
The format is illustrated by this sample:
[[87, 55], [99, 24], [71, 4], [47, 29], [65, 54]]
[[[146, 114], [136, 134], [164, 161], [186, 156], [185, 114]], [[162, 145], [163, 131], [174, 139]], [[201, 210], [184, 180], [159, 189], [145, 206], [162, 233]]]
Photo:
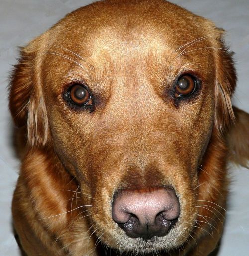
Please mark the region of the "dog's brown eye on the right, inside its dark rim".
[[196, 80], [189, 75], [182, 76], [178, 79], [175, 97], [183, 97], [192, 94], [196, 89]]

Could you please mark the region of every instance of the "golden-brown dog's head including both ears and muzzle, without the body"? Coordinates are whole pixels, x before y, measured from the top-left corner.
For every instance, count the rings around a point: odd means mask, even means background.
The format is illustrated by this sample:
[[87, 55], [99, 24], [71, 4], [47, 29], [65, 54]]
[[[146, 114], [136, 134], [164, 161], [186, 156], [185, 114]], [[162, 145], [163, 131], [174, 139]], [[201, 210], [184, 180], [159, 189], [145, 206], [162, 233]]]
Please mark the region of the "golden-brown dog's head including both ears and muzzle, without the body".
[[207, 189], [196, 190], [198, 167], [232, 119], [235, 74], [221, 35], [166, 1], [104, 1], [23, 50], [14, 120], [27, 124], [30, 147], [53, 147], [94, 198], [85, 203], [105, 244], [170, 249], [193, 229], [197, 193]]

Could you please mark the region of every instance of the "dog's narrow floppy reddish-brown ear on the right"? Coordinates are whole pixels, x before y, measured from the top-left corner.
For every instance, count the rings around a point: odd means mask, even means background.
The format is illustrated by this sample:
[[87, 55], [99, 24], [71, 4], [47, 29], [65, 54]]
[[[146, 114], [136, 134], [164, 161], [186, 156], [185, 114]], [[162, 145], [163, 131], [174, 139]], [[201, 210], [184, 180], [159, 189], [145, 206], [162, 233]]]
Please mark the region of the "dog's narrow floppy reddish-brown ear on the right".
[[232, 52], [228, 50], [222, 39], [223, 30], [218, 29], [216, 43], [216, 86], [215, 86], [215, 127], [222, 134], [234, 121], [231, 103], [236, 86], [236, 73]]

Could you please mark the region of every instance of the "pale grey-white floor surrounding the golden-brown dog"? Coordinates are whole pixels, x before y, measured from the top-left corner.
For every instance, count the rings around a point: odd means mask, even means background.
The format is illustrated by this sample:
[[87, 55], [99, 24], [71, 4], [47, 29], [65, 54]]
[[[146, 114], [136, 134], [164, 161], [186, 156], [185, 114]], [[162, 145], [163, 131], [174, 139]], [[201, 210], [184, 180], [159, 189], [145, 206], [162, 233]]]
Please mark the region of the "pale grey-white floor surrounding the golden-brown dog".
[[[12, 147], [13, 124], [7, 85], [17, 46], [24, 46], [68, 12], [90, 0], [0, 0], [0, 256], [19, 256], [11, 231], [11, 198], [19, 161]], [[249, 0], [172, 0], [213, 20], [227, 31], [236, 54], [238, 87], [234, 104], [249, 112]], [[247, 134], [249, 135], [249, 134]], [[249, 170], [231, 169], [229, 209], [219, 256], [249, 256]]]

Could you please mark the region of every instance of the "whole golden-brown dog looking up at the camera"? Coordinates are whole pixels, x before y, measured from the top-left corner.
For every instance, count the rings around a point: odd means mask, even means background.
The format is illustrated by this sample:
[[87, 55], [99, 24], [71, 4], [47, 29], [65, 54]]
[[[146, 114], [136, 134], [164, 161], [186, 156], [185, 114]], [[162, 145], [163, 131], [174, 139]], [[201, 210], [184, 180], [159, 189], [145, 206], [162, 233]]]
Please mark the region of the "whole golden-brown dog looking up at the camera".
[[[28, 256], [208, 256], [249, 114], [223, 30], [164, 0], [105, 0], [21, 48], [9, 107]], [[25, 146], [23, 145], [25, 144]]]

